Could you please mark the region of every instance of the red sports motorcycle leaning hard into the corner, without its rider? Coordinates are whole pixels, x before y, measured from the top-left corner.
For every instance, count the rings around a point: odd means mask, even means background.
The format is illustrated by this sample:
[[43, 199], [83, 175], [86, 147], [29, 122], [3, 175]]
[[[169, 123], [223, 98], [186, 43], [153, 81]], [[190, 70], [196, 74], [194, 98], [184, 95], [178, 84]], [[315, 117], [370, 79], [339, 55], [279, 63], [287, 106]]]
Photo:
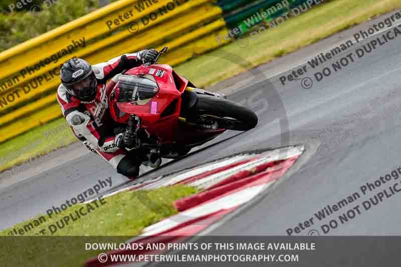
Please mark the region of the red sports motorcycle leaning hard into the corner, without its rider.
[[169, 65], [155, 62], [119, 76], [109, 101], [117, 123], [136, 132], [135, 149], [159, 157], [178, 158], [226, 130], [247, 131], [258, 123], [256, 114], [222, 94], [197, 89]]

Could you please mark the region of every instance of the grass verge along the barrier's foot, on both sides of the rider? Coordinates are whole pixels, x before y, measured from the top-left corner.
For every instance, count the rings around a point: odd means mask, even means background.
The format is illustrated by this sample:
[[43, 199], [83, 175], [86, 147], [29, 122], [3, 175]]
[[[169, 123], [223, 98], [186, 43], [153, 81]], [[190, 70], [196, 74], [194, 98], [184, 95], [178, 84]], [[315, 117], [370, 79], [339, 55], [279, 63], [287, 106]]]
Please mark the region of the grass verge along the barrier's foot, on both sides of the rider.
[[[255, 38], [255, 40], [248, 38], [249, 45], [246, 48], [241, 48], [238, 42], [233, 42], [208, 55], [199, 56], [183, 63], [175, 69], [198, 87], [205, 87], [294, 52], [299, 48], [316, 43], [341, 30], [396, 8], [401, 8], [399, 0], [331, 1], [316, 6], [306, 13], [286, 21], [275, 29], [268, 30]], [[241, 64], [240, 66], [236, 62], [224, 60], [219, 56], [220, 50], [234, 55], [241, 55], [241, 58], [249, 63]], [[63, 124], [65, 124], [65, 121], [60, 118], [1, 144], [0, 159], [9, 155], [11, 151], [24, 149], [32, 142], [35, 142], [37, 138], [46, 139], [45, 133], [47, 131], [54, 130]], [[57, 131], [52, 138], [47, 138], [41, 145], [25, 149], [23, 154], [17, 155], [6, 162], [3, 161], [2, 163], [0, 161], [0, 171], [20, 164], [29, 158], [67, 145], [74, 140], [76, 139], [69, 129]]]

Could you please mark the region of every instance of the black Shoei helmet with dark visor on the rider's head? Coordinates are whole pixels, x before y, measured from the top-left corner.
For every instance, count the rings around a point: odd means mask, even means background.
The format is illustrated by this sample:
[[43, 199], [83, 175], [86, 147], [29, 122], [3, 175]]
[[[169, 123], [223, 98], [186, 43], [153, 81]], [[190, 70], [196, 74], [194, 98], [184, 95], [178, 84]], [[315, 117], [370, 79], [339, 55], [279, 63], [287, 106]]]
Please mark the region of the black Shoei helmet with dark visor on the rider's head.
[[92, 66], [83, 59], [70, 59], [60, 71], [60, 79], [67, 92], [82, 101], [92, 101], [96, 97], [97, 80]]

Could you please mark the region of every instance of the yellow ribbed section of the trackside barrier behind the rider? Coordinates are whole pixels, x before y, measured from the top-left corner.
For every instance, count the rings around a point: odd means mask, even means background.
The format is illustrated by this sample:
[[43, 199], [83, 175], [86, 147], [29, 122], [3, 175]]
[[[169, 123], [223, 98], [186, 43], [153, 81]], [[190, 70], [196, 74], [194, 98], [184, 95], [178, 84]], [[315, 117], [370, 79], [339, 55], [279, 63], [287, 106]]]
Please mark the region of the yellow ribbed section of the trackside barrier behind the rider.
[[[58, 77], [60, 64], [72, 56], [82, 57], [88, 62], [96, 64], [123, 53], [132, 53], [143, 48], [157, 47], [161, 44], [168, 45], [171, 53], [173, 53], [174, 49], [187, 45], [191, 41], [204, 38], [207, 34], [211, 35], [211, 31], [217, 31], [219, 28], [225, 27], [224, 20], [221, 18], [222, 10], [218, 6], [212, 5], [213, 1], [174, 1], [159, 0], [157, 4], [153, 4], [140, 13], [132, 12], [134, 16], [113, 29], [119, 31], [114, 31], [113, 35], [100, 39], [98, 42], [90, 43], [94, 38], [99, 38], [104, 33], [108, 34], [109, 27], [106, 22], [134, 9], [132, 6], [129, 6], [134, 1], [123, 0], [114, 3], [41, 37], [1, 53], [0, 66], [5, 71], [2, 71], [0, 76], [8, 76], [11, 80], [13, 77], [18, 77], [19, 79], [14, 79], [15, 82], [11, 86], [0, 92], [0, 112], [5, 115], [7, 114], [6, 116], [3, 115], [0, 120], [0, 142], [6, 141], [55, 118], [54, 114], [42, 114], [38, 121], [34, 115], [29, 115], [29, 117], [22, 116], [36, 112], [38, 107], [49, 105], [52, 96], [41, 99], [39, 102], [40, 105], [32, 102], [32, 99], [43, 98], [43, 96], [48, 94], [53, 95], [53, 103], [51, 104], [58, 106], [54, 93], [60, 83]], [[121, 3], [124, 5], [121, 5]], [[175, 5], [174, 8], [172, 8], [170, 3]], [[131, 33], [127, 28], [121, 27], [121, 24], [127, 26], [127, 24], [132, 22], [143, 23], [141, 19], [149, 16], [152, 12], [157, 12], [159, 9], [165, 8], [167, 5], [169, 5], [169, 9], [165, 9], [167, 12], [162, 13], [158, 19], [146, 24], [145, 29], [140, 28], [136, 33]], [[110, 8], [110, 6], [112, 7]], [[32, 66], [32, 64], [35, 66], [35, 63], [38, 63], [40, 60], [49, 58], [54, 53], [67, 47], [72, 43], [71, 40], [80, 39], [85, 39], [86, 46], [84, 48], [77, 48], [73, 53], [66, 54], [57, 63], [41, 66], [33, 75], [25, 75], [25, 77], [22, 75], [21, 72], [27, 69], [26, 66]], [[53, 41], [49, 43], [48, 41], [50, 40]], [[211, 47], [215, 47], [215, 45], [213, 43]], [[175, 64], [178, 64], [187, 59], [187, 55], [180, 55], [174, 61]], [[24, 65], [21, 62], [24, 62]], [[51, 75], [52, 72], [55, 72], [55, 74]], [[42, 85], [40, 86], [41, 82]], [[12, 108], [18, 109], [10, 112]], [[30, 112], [22, 112], [21, 109]], [[56, 114], [56, 117], [62, 115], [60, 111], [57, 111]], [[18, 120], [24, 123], [20, 124], [21, 127], [16, 128], [13, 124], [18, 122]]]

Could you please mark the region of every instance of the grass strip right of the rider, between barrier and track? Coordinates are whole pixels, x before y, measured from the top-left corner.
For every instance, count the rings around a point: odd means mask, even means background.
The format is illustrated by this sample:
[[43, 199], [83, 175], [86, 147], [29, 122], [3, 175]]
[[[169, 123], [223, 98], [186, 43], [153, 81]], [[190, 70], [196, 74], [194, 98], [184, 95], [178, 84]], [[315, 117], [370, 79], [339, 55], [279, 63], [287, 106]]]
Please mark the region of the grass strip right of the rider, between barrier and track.
[[[316, 43], [381, 14], [401, 8], [399, 0], [335, 0], [323, 2], [302, 15], [256, 36], [181, 64], [175, 70], [198, 87], [206, 87]], [[259, 29], [260, 26], [255, 26]], [[230, 58], [230, 55], [235, 57]], [[241, 59], [241, 62], [239, 62]]]

